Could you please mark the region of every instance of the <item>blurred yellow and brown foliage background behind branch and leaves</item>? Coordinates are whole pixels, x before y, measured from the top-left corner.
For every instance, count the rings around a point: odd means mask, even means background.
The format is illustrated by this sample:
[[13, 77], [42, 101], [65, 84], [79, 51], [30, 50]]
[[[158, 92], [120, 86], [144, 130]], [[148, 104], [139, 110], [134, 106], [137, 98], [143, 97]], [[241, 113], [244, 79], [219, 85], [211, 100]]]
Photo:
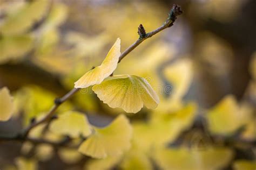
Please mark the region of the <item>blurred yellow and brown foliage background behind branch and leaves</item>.
[[[139, 24], [156, 29], [173, 3], [184, 10], [174, 26], [143, 42], [114, 72], [145, 77], [160, 97], [157, 109], [126, 114], [133, 128], [128, 151], [92, 159], [73, 148], [0, 142], [0, 169], [256, 169], [253, 0], [1, 0], [0, 87], [11, 90], [15, 114], [0, 122], [0, 132], [44, 115], [117, 37], [124, 51]], [[124, 113], [90, 88], [57, 114], [70, 110], [97, 126]], [[62, 137], [43, 128], [30, 136]]]

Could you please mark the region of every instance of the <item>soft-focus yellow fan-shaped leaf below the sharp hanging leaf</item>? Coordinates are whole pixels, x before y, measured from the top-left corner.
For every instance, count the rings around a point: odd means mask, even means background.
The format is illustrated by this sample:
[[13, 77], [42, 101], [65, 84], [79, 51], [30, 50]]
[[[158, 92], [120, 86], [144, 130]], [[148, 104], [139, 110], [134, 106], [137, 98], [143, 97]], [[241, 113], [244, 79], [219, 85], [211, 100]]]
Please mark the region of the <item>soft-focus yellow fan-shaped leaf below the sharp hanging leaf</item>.
[[124, 115], [118, 116], [105, 128], [95, 128], [78, 151], [93, 158], [106, 158], [122, 154], [130, 148], [132, 127]]

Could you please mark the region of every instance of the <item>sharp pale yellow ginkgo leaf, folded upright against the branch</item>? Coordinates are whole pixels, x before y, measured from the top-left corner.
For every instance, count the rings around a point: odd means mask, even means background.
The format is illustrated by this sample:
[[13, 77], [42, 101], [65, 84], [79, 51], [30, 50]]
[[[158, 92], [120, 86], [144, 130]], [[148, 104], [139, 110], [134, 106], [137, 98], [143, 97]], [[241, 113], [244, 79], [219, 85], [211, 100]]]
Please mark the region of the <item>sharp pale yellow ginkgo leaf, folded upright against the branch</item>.
[[106, 77], [110, 76], [117, 68], [117, 63], [121, 54], [120, 43], [120, 38], [117, 38], [102, 64], [94, 69], [91, 69], [89, 72], [80, 77], [80, 79], [75, 82], [75, 88], [86, 88], [94, 84], [99, 84]]

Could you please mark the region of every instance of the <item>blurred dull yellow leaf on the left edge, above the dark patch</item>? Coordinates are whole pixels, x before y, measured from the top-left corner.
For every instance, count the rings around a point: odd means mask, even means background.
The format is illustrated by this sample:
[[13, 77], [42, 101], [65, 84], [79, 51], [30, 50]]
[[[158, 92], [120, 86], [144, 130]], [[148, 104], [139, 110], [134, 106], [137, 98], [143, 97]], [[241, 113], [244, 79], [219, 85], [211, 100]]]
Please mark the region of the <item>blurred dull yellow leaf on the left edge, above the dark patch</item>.
[[0, 38], [0, 64], [19, 59], [33, 47], [33, 38], [29, 34], [3, 36]]

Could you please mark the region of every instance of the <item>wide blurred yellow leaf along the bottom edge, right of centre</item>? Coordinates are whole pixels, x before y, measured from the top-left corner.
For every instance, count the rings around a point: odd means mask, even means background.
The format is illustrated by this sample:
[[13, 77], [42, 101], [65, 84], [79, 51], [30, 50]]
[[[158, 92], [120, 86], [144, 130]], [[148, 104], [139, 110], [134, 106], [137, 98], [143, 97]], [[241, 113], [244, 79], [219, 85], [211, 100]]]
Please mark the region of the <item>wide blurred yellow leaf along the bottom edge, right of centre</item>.
[[152, 154], [163, 170], [217, 170], [225, 167], [232, 159], [228, 148], [161, 148]]

